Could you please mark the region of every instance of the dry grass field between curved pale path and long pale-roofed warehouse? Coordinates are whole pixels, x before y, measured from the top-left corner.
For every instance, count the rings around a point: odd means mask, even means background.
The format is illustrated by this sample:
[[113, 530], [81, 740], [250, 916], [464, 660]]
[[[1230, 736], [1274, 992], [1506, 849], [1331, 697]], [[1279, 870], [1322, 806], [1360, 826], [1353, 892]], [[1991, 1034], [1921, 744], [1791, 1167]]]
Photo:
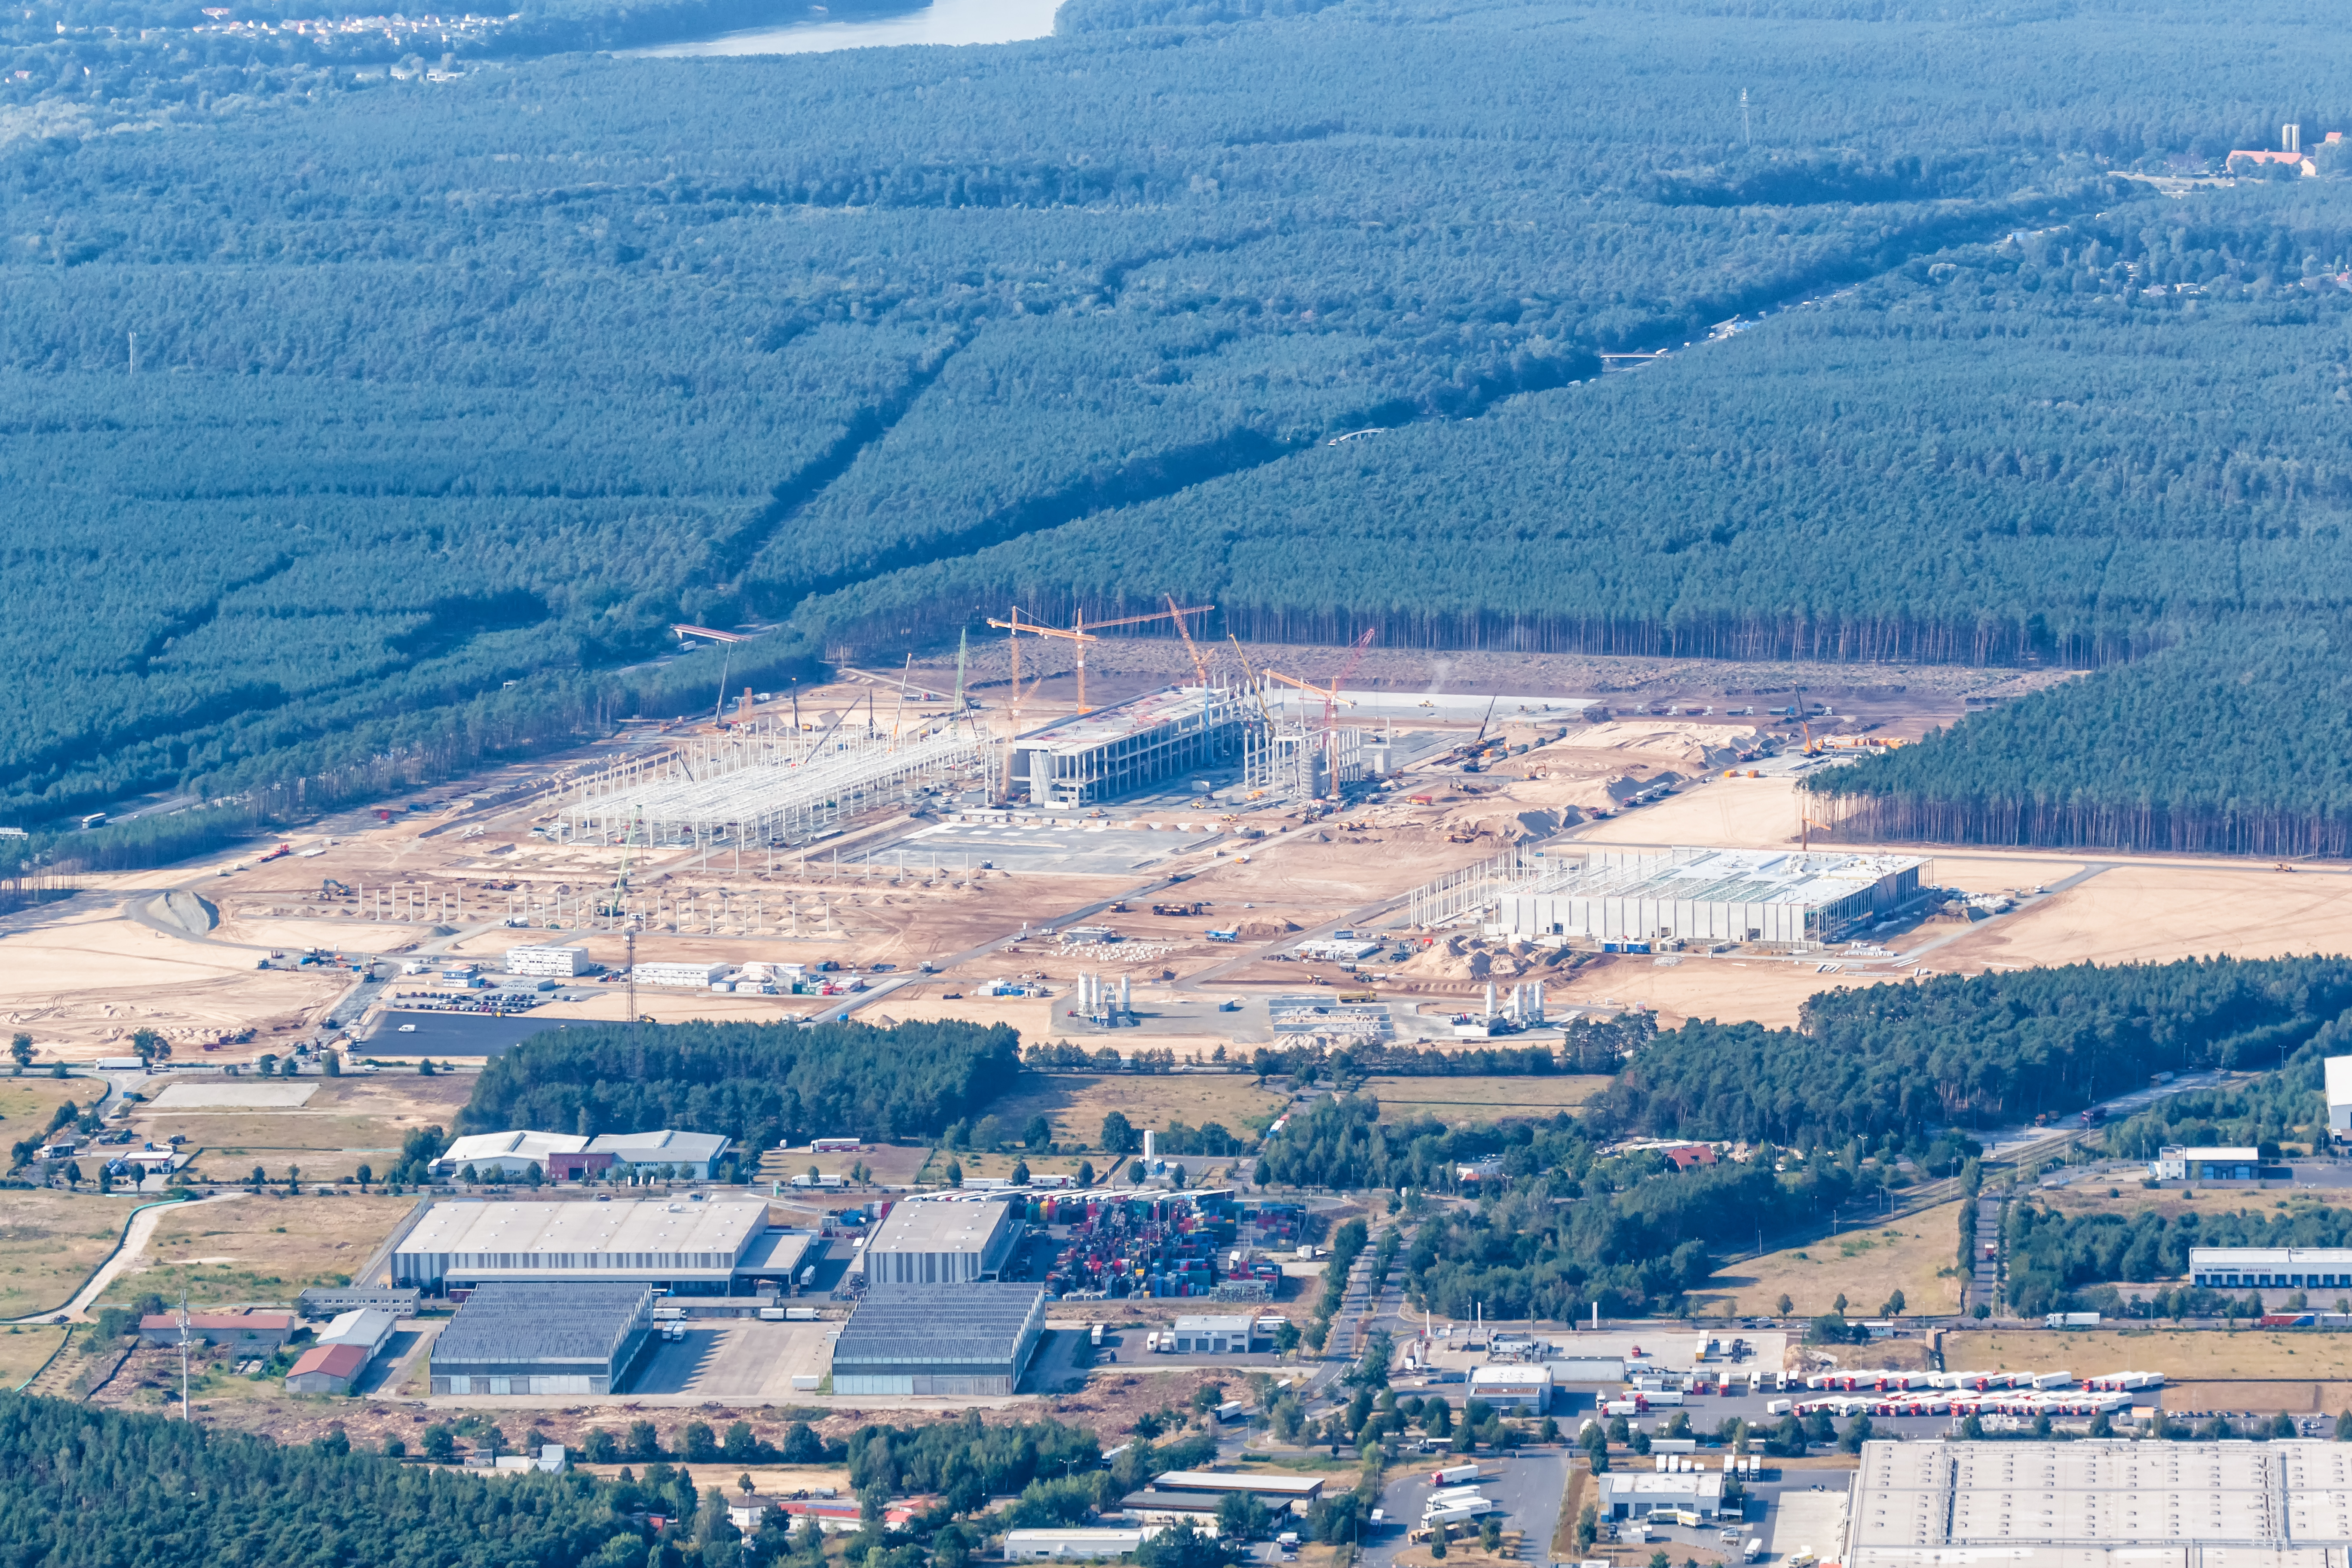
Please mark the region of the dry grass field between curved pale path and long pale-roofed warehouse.
[[146, 1255], [101, 1300], [129, 1302], [148, 1291], [176, 1298], [186, 1284], [191, 1305], [292, 1302], [308, 1286], [348, 1284], [414, 1204], [261, 1192], [165, 1213]]

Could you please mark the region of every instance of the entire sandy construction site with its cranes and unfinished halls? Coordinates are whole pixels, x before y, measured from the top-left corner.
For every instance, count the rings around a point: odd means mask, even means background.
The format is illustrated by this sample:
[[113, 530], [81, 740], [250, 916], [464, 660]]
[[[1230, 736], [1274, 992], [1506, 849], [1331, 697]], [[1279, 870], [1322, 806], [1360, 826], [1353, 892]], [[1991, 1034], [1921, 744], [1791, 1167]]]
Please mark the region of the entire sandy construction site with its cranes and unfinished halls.
[[1987, 964], [2352, 947], [2333, 872], [1809, 844], [1797, 780], [1980, 701], [1945, 684], [1792, 703], [1762, 668], [1693, 691], [1642, 661], [993, 625], [946, 665], [78, 877], [0, 917], [0, 1013], [64, 1063], [141, 1030], [207, 1065], [482, 1060], [633, 1016], [1444, 1048], [1625, 1009], [1792, 1023], [1825, 987]]

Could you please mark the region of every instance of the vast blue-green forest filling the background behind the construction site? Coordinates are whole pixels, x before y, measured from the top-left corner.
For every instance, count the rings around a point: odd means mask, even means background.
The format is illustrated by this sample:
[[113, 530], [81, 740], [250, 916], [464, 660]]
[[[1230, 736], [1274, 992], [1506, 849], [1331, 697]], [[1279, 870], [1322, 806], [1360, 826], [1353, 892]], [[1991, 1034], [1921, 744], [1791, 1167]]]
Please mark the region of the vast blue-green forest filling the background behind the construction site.
[[776, 625], [748, 679], [1164, 590], [2096, 663], [2352, 581], [2343, 186], [2122, 179], [2352, 125], [2307, 7], [1073, 0], [701, 61], [513, 49], [739, 12], [230, 12], [0, 28], [26, 827], [684, 712], [673, 621]]

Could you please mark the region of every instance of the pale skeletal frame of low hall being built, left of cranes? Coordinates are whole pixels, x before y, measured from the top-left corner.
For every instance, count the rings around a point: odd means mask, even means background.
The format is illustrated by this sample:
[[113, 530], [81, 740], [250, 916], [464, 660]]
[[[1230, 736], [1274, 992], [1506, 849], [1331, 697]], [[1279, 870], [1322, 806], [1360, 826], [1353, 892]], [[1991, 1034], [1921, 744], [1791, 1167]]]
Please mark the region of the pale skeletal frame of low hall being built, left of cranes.
[[964, 776], [985, 776], [985, 743], [962, 724], [913, 738], [739, 731], [590, 776], [564, 827], [597, 844], [788, 846]]

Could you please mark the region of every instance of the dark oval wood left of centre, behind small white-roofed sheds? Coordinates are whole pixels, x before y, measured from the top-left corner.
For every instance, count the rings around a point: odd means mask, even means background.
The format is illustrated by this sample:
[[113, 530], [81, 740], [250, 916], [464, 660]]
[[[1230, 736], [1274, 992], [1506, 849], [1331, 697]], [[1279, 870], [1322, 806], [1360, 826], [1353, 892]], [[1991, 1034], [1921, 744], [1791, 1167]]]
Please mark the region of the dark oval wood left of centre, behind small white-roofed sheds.
[[682, 1023], [550, 1030], [489, 1063], [461, 1133], [727, 1133], [746, 1150], [809, 1138], [936, 1138], [1021, 1072], [1009, 1025]]

